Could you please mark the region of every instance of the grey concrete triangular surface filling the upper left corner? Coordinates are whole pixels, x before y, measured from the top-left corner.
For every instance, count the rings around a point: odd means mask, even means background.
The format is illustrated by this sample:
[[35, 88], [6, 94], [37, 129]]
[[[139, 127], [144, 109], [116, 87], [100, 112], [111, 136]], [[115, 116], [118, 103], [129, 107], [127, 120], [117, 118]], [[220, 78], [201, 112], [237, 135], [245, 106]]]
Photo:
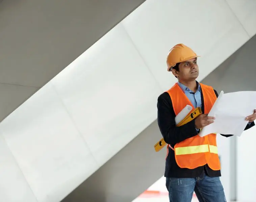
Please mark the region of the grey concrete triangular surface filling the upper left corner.
[[0, 121], [145, 0], [0, 0]]

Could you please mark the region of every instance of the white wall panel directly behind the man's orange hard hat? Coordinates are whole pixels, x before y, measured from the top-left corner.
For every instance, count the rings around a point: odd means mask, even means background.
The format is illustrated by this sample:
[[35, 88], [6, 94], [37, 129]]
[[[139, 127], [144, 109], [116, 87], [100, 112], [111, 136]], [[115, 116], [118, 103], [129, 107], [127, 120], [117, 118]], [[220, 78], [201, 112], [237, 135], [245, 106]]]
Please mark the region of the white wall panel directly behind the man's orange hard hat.
[[249, 39], [225, 0], [147, 0], [122, 24], [164, 90], [177, 81], [166, 65], [175, 44], [184, 43], [202, 56], [199, 63], [207, 68], [200, 68], [202, 79]]

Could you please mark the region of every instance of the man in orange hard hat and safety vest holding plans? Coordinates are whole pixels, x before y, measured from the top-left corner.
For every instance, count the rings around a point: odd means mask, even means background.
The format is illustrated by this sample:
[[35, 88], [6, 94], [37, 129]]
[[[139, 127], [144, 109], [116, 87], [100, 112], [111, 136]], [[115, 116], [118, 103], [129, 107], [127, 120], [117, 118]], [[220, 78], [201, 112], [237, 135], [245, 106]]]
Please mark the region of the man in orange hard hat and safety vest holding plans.
[[[196, 81], [199, 75], [197, 57], [183, 44], [177, 44], [170, 50], [168, 71], [172, 71], [178, 82], [162, 93], [157, 102], [158, 125], [168, 144], [164, 176], [170, 202], [191, 202], [194, 191], [200, 202], [226, 201], [219, 178], [221, 171], [216, 134], [198, 135], [202, 127], [214, 121], [214, 117], [207, 114], [218, 94], [211, 86]], [[186, 105], [201, 107], [203, 114], [176, 127], [175, 116]], [[245, 117], [248, 121], [245, 130], [255, 125], [255, 113]]]

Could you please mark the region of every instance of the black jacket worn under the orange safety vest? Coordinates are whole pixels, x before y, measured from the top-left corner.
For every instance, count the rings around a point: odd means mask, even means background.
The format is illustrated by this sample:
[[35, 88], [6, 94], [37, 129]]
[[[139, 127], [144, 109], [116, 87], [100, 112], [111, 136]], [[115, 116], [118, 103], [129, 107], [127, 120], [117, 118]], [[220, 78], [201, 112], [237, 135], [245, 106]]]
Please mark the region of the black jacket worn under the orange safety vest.
[[[214, 90], [216, 96], [218, 97], [218, 93]], [[201, 91], [201, 99], [202, 99], [202, 112], [204, 113], [204, 98]], [[173, 148], [174, 145], [182, 142], [183, 140], [196, 136], [198, 134], [195, 128], [195, 120], [188, 122], [187, 124], [176, 127], [175, 124], [175, 113], [173, 110], [172, 100], [168, 92], [162, 93], [157, 100], [157, 121], [158, 126], [161, 131], [161, 134], [164, 138], [164, 141], [167, 144], [170, 144]], [[254, 122], [248, 124], [245, 130], [254, 126]], [[230, 137], [232, 135], [223, 135], [225, 137]], [[164, 157], [163, 157], [164, 158]], [[174, 151], [169, 148], [169, 154], [166, 158], [165, 162], [165, 177], [177, 177], [177, 178], [192, 178], [198, 177], [202, 174], [203, 169], [205, 169], [207, 175], [211, 177], [219, 177], [221, 176], [221, 171], [214, 171], [206, 164], [204, 166], [197, 167], [195, 169], [188, 168], [180, 168], [175, 160]]]

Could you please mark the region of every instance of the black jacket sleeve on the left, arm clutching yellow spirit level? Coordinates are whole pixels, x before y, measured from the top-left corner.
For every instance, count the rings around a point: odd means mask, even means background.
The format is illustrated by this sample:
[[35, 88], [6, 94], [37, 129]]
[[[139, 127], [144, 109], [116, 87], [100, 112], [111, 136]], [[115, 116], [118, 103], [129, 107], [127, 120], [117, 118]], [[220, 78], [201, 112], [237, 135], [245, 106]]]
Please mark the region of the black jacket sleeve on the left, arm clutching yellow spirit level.
[[157, 122], [164, 141], [170, 145], [175, 145], [198, 134], [195, 128], [195, 120], [176, 127], [172, 101], [167, 92], [158, 97]]

